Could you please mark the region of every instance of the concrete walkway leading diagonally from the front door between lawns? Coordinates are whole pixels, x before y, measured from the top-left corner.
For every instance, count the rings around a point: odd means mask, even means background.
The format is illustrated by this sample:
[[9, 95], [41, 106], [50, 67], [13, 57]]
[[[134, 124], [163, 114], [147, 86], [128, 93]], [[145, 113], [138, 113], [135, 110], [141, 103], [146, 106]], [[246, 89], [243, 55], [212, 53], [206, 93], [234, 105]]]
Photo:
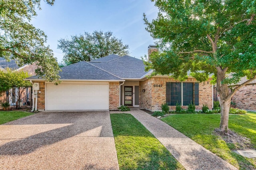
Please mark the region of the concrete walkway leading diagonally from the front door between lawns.
[[[110, 113], [120, 113], [120, 111], [110, 111]], [[138, 119], [186, 170], [237, 170], [222, 158], [148, 113], [136, 108], [123, 113], [130, 113]]]

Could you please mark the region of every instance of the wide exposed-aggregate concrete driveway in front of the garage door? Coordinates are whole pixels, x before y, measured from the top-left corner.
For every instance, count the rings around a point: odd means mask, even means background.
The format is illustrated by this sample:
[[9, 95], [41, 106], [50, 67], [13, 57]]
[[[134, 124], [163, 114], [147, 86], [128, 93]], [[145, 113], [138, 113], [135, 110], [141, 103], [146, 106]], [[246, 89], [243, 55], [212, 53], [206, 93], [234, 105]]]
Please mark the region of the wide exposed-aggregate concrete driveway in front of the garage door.
[[109, 111], [41, 112], [0, 125], [0, 169], [118, 170]]

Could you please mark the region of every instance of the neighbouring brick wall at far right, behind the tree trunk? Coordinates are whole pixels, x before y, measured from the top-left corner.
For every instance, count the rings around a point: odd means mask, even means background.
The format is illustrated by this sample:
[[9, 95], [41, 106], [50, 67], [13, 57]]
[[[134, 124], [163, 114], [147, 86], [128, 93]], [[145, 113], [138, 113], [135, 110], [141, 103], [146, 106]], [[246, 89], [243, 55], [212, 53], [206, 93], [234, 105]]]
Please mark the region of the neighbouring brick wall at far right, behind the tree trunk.
[[239, 109], [256, 111], [256, 84], [248, 84], [236, 92], [232, 97]]

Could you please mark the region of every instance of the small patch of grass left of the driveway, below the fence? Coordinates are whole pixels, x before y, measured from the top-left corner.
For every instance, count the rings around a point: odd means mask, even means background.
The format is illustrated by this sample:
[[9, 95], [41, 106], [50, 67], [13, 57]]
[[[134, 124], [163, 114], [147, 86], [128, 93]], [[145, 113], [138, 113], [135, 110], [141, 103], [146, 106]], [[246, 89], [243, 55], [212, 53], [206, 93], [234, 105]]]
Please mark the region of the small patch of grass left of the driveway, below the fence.
[[0, 111], [0, 124], [14, 121], [32, 114], [34, 113], [26, 111]]

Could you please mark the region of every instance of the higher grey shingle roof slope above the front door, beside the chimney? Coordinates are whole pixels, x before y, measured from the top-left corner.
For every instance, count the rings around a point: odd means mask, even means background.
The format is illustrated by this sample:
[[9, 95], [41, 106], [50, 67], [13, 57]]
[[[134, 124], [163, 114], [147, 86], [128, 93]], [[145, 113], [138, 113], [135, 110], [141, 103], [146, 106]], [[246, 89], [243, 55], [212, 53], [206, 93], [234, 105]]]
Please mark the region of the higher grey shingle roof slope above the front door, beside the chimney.
[[[104, 57], [103, 57], [104, 58]], [[90, 62], [91, 64], [111, 72], [120, 78], [141, 78], [148, 72], [145, 71], [145, 65], [142, 60], [125, 55], [113, 60], [108, 60], [108, 56], [104, 61], [108, 62]]]

